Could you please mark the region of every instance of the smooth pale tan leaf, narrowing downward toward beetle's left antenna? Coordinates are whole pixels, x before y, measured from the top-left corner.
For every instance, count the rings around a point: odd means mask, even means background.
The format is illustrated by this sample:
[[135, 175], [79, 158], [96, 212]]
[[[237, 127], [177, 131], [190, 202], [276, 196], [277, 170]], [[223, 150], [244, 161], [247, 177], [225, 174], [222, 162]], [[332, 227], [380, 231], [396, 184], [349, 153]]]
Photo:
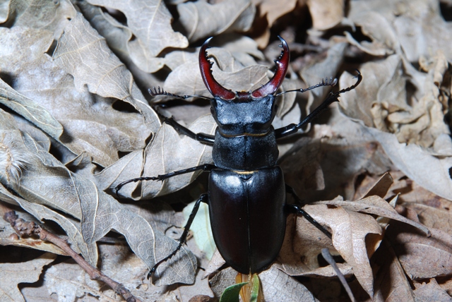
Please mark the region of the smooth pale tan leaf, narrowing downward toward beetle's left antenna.
[[81, 13], [64, 29], [53, 59], [73, 75], [78, 89], [87, 85], [91, 93], [129, 102], [143, 114], [144, 123], [151, 131], [159, 126], [157, 116], [145, 103], [131, 73], [108, 49], [105, 38], [91, 28]]

